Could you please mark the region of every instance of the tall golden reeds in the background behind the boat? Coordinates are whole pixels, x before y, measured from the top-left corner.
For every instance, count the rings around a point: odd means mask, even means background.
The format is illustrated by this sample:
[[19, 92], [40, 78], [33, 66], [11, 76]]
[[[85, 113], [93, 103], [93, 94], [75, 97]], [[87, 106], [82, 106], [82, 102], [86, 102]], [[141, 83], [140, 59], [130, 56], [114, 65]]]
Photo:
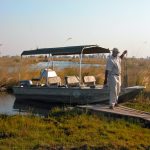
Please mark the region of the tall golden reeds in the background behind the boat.
[[[54, 60], [66, 60], [67, 58], [54, 58]], [[27, 57], [22, 60], [19, 57], [0, 58], [0, 85], [15, 85], [20, 79], [32, 79], [39, 77], [40, 70], [31, 70], [30, 65], [44, 60], [43, 57]], [[78, 61], [78, 58], [72, 58], [70, 61]], [[103, 84], [106, 59], [83, 58], [85, 63], [101, 64], [100, 67], [82, 67], [82, 77], [85, 75], [94, 75], [97, 84]], [[150, 60], [147, 59], [127, 59], [127, 77], [128, 85], [144, 85], [150, 88]], [[57, 74], [64, 81], [65, 76], [79, 76], [79, 68], [56, 69]], [[122, 63], [122, 83], [125, 76], [125, 66]]]

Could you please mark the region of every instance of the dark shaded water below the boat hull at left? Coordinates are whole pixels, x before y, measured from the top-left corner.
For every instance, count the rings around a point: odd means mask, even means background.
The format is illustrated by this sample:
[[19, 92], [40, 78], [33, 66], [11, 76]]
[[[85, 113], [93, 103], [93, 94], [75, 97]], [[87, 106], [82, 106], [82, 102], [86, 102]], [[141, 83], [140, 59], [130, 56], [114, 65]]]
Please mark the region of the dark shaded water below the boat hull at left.
[[32, 113], [37, 116], [48, 116], [54, 107], [64, 107], [62, 105], [51, 105], [42, 102], [31, 102], [16, 100], [14, 95], [6, 94], [0, 96], [0, 114], [15, 115]]

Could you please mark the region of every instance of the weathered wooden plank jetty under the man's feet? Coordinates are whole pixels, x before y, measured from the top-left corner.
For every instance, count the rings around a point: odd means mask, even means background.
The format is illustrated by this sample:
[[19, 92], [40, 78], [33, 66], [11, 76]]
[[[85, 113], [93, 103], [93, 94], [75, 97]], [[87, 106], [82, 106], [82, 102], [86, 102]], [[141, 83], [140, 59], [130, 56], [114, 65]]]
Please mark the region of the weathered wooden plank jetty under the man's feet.
[[98, 114], [104, 114], [109, 117], [133, 119], [135, 121], [143, 122], [146, 126], [150, 127], [149, 112], [132, 109], [123, 105], [119, 105], [114, 109], [109, 109], [109, 105], [107, 104], [80, 105], [78, 108]]

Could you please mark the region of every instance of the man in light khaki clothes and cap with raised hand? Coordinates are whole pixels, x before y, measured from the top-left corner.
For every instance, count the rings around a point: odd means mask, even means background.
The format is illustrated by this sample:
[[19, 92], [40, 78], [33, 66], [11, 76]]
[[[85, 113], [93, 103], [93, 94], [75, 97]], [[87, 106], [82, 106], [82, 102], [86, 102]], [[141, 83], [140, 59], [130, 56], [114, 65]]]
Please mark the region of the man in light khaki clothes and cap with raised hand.
[[114, 48], [112, 55], [108, 57], [104, 85], [109, 87], [109, 104], [110, 109], [114, 109], [114, 106], [118, 106], [118, 96], [121, 87], [121, 59], [127, 53], [125, 50], [121, 56], [118, 56], [119, 50]]

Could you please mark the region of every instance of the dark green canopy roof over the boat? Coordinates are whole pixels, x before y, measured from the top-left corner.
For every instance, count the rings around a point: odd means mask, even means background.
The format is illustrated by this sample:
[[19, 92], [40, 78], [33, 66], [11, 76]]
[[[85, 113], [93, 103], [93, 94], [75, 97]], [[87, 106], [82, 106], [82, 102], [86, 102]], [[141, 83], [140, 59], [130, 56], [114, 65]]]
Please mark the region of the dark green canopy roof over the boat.
[[54, 55], [75, 55], [75, 54], [94, 54], [94, 53], [110, 53], [109, 49], [99, 47], [98, 45], [81, 45], [55, 48], [41, 48], [36, 50], [23, 51], [23, 55], [39, 55], [51, 54]]

